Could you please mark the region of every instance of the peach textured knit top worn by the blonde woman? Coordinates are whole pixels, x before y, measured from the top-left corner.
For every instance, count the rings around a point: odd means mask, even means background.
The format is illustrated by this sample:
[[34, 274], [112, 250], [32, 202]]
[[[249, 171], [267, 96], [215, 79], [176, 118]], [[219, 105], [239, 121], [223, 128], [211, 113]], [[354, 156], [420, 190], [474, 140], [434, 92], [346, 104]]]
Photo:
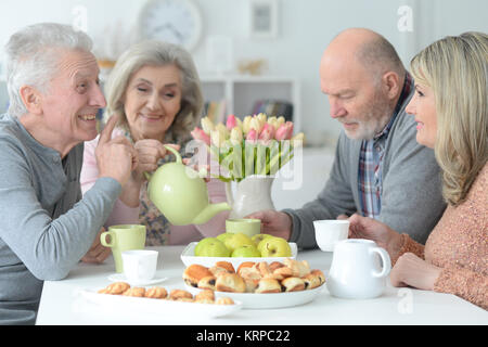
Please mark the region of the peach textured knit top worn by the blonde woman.
[[488, 310], [488, 164], [479, 172], [466, 200], [448, 206], [425, 246], [402, 234], [403, 245], [391, 257], [413, 253], [442, 268], [434, 291], [454, 294]]

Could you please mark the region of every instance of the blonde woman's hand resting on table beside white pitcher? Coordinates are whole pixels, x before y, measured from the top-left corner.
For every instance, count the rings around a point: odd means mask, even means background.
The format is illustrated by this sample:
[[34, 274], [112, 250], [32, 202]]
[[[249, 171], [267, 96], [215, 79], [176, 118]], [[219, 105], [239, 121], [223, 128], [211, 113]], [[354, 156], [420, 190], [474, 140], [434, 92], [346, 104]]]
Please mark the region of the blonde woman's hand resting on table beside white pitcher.
[[442, 269], [419, 258], [413, 253], [406, 253], [398, 258], [390, 272], [394, 286], [412, 286], [432, 291]]

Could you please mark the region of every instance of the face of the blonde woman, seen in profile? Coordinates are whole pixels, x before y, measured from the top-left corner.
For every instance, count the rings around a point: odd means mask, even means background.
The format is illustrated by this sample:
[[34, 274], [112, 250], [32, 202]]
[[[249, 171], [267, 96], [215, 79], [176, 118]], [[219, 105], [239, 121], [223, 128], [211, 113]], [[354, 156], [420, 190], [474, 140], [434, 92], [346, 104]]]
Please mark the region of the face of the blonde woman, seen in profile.
[[415, 116], [416, 142], [434, 149], [437, 138], [437, 112], [432, 88], [415, 83], [415, 94], [406, 111]]

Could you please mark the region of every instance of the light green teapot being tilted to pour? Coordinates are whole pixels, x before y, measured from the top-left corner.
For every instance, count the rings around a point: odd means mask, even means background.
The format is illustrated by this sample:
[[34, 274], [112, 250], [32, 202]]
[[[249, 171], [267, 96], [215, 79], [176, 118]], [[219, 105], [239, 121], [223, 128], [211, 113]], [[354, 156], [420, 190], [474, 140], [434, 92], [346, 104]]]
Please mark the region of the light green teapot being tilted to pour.
[[154, 174], [145, 172], [147, 196], [174, 226], [203, 224], [215, 215], [230, 210], [227, 203], [210, 204], [207, 184], [198, 172], [185, 166], [174, 147], [165, 145], [176, 162], [160, 166]]

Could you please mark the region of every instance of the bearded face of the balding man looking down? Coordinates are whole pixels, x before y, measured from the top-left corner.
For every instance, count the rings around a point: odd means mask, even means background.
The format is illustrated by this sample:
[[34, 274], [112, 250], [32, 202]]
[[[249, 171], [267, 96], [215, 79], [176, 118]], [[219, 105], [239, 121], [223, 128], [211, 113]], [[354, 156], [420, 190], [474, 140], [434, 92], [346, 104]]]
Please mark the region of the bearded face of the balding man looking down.
[[373, 139], [388, 123], [393, 110], [381, 81], [351, 60], [329, 59], [320, 65], [320, 86], [329, 97], [331, 117], [341, 121], [348, 138]]

